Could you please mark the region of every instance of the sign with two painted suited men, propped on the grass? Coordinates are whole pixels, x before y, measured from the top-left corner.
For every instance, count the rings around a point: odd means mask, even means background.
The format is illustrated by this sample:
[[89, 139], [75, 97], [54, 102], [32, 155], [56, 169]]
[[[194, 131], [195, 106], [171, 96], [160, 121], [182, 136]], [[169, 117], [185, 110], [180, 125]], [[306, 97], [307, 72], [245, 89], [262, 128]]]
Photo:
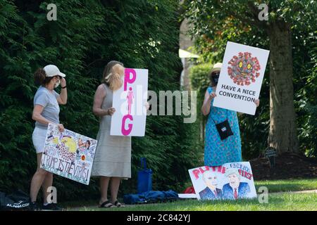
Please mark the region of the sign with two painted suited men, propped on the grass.
[[218, 167], [189, 169], [197, 199], [237, 200], [256, 198], [249, 162], [229, 162]]

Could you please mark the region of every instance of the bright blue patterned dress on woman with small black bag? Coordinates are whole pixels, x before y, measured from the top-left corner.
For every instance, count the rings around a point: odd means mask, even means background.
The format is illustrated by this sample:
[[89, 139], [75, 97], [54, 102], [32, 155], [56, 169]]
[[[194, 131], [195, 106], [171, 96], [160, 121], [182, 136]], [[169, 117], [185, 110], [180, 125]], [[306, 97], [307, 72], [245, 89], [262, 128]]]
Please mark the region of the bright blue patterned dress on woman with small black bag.
[[[207, 90], [211, 94], [213, 88], [209, 87]], [[233, 135], [221, 141], [216, 124], [225, 121], [227, 118]], [[241, 161], [241, 139], [237, 112], [214, 107], [212, 100], [206, 124], [204, 163], [206, 166], [219, 166], [227, 162]]]

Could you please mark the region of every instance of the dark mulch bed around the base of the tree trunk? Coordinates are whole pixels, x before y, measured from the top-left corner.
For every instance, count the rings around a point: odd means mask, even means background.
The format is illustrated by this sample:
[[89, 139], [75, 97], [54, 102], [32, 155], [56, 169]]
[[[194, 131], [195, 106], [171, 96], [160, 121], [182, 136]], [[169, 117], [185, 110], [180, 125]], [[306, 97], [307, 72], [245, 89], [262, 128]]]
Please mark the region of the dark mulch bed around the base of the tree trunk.
[[317, 159], [304, 155], [282, 154], [275, 158], [273, 168], [268, 158], [256, 158], [249, 162], [255, 180], [317, 178]]

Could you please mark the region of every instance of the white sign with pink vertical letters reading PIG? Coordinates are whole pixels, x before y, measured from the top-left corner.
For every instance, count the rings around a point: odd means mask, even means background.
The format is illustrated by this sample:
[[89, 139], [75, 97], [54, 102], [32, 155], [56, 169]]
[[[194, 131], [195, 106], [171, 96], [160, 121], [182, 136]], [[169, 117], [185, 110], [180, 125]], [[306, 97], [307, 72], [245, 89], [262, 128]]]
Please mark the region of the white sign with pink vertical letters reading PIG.
[[125, 68], [123, 86], [113, 92], [116, 112], [111, 116], [110, 135], [144, 136], [147, 120], [148, 70]]

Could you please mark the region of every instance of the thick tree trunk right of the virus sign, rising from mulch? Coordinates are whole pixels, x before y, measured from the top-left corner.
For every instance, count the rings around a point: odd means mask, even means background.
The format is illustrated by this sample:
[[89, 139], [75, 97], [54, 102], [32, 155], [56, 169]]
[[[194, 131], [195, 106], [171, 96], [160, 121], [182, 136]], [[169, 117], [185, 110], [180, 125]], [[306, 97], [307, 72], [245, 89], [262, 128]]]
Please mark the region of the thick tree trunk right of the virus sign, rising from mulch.
[[281, 153], [298, 153], [292, 71], [290, 25], [271, 23], [270, 37], [270, 131], [268, 145]]

